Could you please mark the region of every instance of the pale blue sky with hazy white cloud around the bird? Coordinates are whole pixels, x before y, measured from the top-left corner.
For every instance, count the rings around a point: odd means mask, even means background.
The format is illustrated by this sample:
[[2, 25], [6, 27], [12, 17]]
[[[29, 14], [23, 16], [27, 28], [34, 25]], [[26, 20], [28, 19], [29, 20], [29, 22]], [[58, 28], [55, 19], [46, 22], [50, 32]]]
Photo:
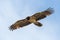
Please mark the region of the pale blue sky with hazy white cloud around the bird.
[[[43, 26], [30, 24], [10, 31], [16, 22], [52, 7], [54, 13], [39, 21]], [[0, 40], [60, 40], [60, 0], [0, 0]]]

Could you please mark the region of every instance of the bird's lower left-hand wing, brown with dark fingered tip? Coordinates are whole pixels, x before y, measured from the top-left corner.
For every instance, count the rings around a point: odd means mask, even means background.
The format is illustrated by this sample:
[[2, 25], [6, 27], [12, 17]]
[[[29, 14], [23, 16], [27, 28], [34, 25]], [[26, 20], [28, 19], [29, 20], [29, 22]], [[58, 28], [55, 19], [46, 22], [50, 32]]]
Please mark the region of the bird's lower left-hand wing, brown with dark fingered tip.
[[29, 25], [29, 24], [30, 24], [30, 22], [27, 19], [18, 20], [16, 23], [12, 24], [9, 27], [9, 29], [13, 31], [17, 28], [24, 27], [24, 26]]

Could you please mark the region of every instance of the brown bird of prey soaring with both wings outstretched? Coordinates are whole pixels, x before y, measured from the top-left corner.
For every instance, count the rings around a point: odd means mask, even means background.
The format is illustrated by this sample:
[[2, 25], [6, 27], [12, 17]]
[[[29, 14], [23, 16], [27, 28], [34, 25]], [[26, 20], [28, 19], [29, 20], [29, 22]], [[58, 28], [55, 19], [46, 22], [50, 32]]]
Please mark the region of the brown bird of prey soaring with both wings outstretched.
[[24, 26], [27, 26], [31, 23], [37, 25], [38, 27], [41, 27], [42, 24], [40, 22], [38, 22], [38, 20], [44, 19], [47, 16], [51, 15], [53, 13], [53, 9], [52, 8], [48, 8], [42, 12], [37, 12], [32, 16], [28, 16], [25, 19], [22, 20], [18, 20], [17, 22], [15, 22], [14, 24], [12, 24], [9, 29], [10, 30], [15, 30], [18, 28], [22, 28]]

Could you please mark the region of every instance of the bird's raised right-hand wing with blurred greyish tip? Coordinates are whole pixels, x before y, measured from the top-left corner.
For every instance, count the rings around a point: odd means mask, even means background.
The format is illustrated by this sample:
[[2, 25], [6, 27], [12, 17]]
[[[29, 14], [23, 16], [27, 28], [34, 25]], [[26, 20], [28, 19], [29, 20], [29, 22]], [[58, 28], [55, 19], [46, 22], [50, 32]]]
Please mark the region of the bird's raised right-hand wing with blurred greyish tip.
[[36, 20], [40, 20], [45, 18], [46, 16], [50, 15], [53, 13], [53, 9], [52, 8], [48, 8], [47, 10], [43, 11], [43, 12], [38, 12], [32, 16], [34, 16], [36, 18]]

